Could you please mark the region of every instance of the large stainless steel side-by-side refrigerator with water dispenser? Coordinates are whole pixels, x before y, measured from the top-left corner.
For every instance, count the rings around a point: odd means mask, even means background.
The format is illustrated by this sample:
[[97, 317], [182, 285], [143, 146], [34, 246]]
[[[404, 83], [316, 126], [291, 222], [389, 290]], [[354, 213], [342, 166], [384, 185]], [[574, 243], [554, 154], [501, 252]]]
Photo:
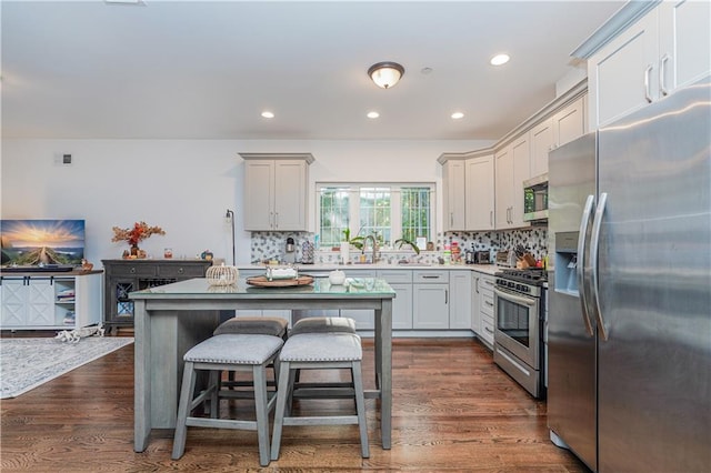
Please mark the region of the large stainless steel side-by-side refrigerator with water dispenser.
[[551, 439], [591, 470], [711, 469], [709, 78], [549, 159]]

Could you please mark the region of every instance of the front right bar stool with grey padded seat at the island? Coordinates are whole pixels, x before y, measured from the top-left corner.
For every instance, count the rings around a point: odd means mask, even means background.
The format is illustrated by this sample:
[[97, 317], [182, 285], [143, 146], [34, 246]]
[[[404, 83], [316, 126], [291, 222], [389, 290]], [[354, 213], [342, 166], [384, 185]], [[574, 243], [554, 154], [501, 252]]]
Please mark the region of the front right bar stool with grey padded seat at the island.
[[[271, 460], [279, 459], [281, 433], [284, 425], [342, 425], [358, 424], [360, 429], [361, 455], [370, 456], [365, 397], [361, 361], [363, 352], [360, 336], [352, 333], [302, 333], [289, 336], [279, 361], [279, 391], [271, 443]], [[296, 370], [350, 369], [353, 376], [351, 396], [356, 399], [356, 415], [301, 415], [290, 413], [290, 392]]]

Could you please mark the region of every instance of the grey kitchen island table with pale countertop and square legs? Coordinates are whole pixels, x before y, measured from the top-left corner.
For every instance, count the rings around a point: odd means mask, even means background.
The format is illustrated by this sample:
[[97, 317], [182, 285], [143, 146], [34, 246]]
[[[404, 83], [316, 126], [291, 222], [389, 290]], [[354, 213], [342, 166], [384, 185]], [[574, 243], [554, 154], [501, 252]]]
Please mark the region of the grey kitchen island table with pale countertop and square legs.
[[[319, 282], [318, 280], [314, 282]], [[328, 281], [287, 288], [256, 288], [244, 279], [229, 286], [211, 286], [191, 279], [131, 292], [136, 303], [134, 451], [143, 452], [153, 429], [174, 429], [183, 354], [211, 336], [219, 311], [233, 309], [371, 310], [374, 314], [375, 389], [380, 399], [382, 447], [391, 445], [392, 425], [392, 300], [395, 292], [381, 279], [363, 285]]]

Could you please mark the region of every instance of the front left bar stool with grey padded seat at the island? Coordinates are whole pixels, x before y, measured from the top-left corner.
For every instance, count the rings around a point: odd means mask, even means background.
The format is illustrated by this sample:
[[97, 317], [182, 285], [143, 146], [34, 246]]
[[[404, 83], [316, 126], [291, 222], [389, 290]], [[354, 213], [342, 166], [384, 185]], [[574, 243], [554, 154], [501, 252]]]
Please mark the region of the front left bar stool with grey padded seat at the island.
[[[180, 459], [186, 450], [188, 426], [256, 430], [259, 441], [259, 463], [269, 464], [269, 412], [277, 396], [267, 392], [267, 365], [274, 361], [283, 340], [273, 335], [223, 334], [212, 336], [188, 350], [178, 420], [173, 437], [172, 459]], [[193, 397], [198, 370], [210, 372], [209, 385]], [[251, 371], [254, 380], [254, 404], [257, 421], [226, 420], [219, 417], [218, 376], [222, 371]], [[211, 417], [193, 417], [192, 410], [210, 401]]]

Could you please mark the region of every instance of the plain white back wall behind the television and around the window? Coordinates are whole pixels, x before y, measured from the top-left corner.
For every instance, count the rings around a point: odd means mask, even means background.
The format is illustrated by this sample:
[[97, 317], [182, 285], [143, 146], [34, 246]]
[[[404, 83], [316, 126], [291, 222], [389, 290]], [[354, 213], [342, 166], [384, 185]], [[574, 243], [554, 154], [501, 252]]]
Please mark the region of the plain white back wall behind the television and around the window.
[[[242, 231], [243, 161], [239, 152], [310, 152], [310, 227], [314, 182], [399, 181], [441, 185], [437, 158], [489, 141], [264, 141], [264, 140], [3, 140], [0, 195], [3, 219], [84, 219], [86, 256], [120, 258], [128, 246], [112, 243], [112, 227], [144, 220], [166, 235], [141, 248], [160, 258], [211, 250], [231, 260], [227, 209], [236, 213], [237, 262], [250, 259], [250, 233]], [[54, 162], [71, 154], [72, 164]], [[438, 193], [438, 209], [441, 199]], [[441, 228], [441, 225], [440, 225]]]

